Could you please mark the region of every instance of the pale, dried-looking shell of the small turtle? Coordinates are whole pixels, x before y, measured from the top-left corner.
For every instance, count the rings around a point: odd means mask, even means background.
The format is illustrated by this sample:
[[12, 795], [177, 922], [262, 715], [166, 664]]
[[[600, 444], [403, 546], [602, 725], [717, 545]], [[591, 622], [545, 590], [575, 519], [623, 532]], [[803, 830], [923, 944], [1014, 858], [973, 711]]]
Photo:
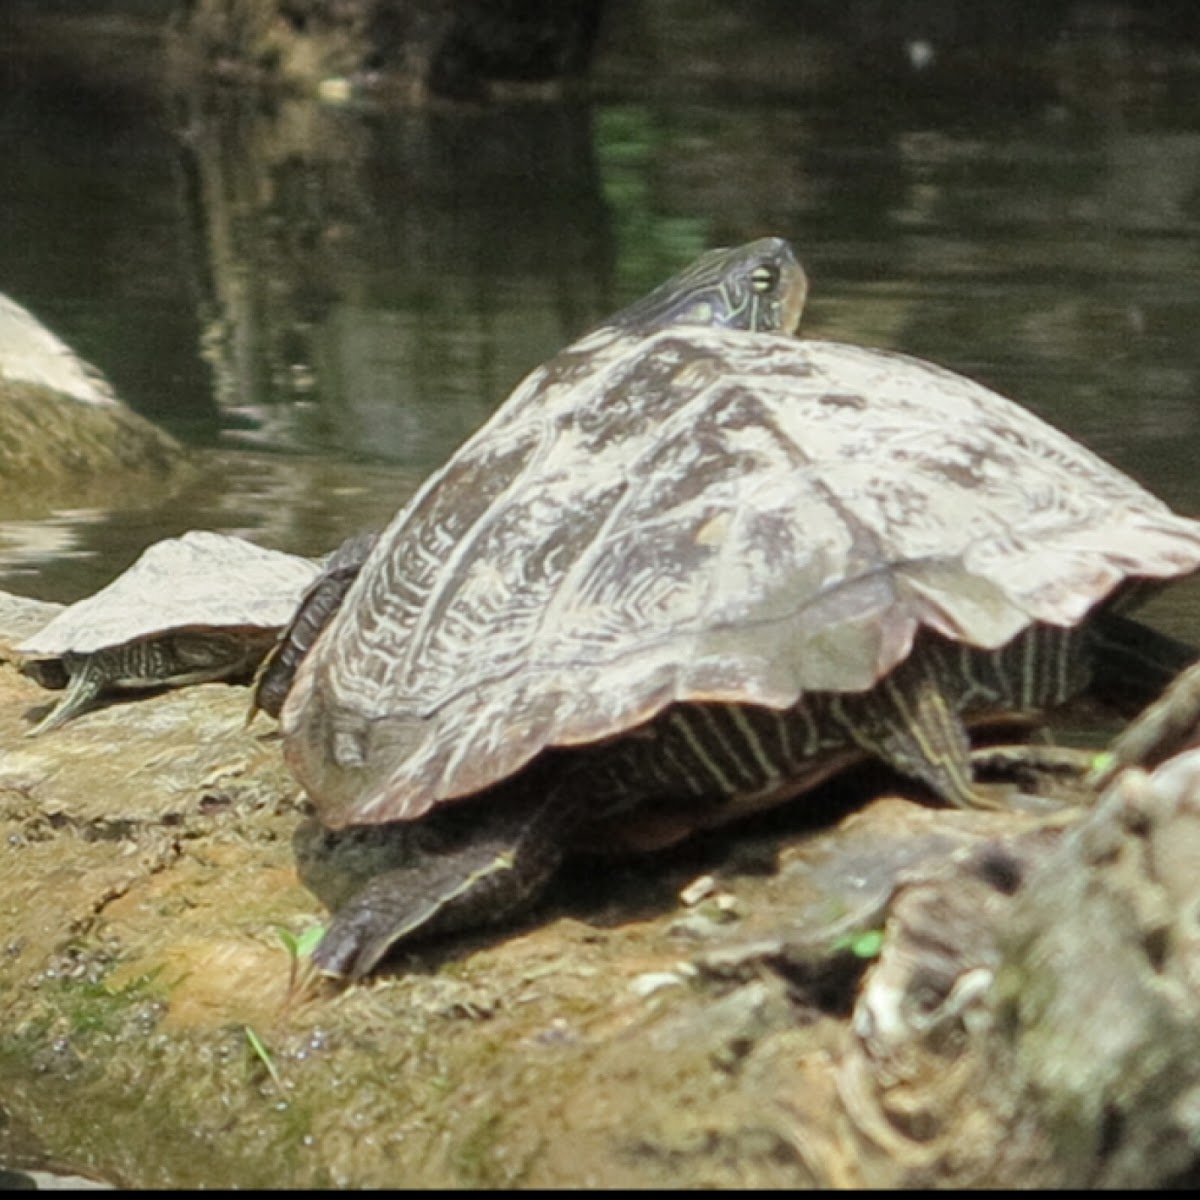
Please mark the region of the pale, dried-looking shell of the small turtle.
[[196, 530], [155, 542], [108, 587], [60, 612], [17, 647], [55, 658], [90, 654], [181, 629], [277, 629], [317, 563], [228, 534]]

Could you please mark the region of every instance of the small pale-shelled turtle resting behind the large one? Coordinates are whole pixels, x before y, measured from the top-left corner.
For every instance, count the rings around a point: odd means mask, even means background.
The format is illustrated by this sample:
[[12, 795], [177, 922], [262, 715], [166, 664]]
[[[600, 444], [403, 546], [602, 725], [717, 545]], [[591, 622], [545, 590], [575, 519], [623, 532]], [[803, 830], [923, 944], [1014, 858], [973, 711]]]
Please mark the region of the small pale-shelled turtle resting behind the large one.
[[318, 569], [205, 530], [155, 542], [17, 647], [25, 674], [66, 689], [28, 732], [58, 728], [109, 690], [251, 676]]

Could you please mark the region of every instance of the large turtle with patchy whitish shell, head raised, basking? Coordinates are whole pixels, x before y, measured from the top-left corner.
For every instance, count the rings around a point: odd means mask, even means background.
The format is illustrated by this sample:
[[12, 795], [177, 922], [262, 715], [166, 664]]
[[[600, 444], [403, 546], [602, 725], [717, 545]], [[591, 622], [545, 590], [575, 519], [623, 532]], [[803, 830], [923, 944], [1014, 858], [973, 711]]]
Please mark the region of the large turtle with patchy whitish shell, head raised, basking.
[[965, 727], [1139, 652], [1105, 614], [1194, 571], [1200, 523], [949, 371], [788, 336], [804, 296], [782, 240], [704, 256], [529, 374], [383, 533], [284, 752], [332, 829], [461, 835], [342, 905], [324, 971], [856, 757], [1002, 803]]

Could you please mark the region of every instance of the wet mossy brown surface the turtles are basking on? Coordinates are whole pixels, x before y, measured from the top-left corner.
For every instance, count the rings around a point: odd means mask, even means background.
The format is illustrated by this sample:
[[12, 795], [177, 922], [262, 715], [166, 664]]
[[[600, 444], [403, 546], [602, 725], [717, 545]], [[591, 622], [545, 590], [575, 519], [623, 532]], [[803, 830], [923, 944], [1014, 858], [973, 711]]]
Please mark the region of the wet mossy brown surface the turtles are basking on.
[[[0, 605], [5, 644], [46, 617]], [[23, 628], [24, 626], [24, 628]], [[25, 739], [0, 664], [0, 1160], [136, 1187], [1151, 1186], [1200, 1132], [1200, 804], [808, 806], [298, 984], [307, 821], [209, 684]]]

